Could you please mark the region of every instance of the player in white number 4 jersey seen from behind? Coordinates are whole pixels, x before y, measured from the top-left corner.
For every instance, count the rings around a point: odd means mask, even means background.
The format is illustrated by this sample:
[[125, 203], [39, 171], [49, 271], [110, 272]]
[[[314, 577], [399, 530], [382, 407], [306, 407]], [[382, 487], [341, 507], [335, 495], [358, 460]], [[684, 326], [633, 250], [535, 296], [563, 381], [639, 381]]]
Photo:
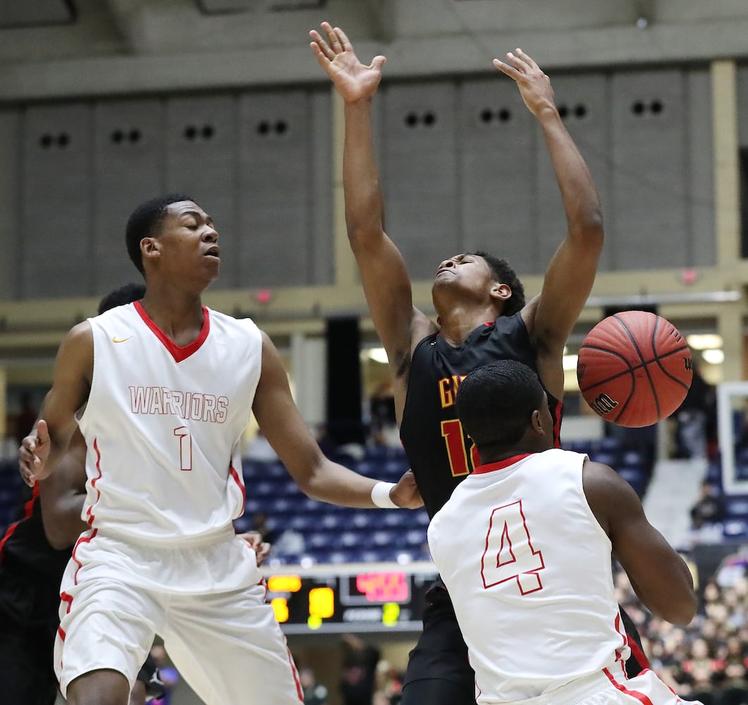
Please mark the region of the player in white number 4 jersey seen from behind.
[[538, 376], [515, 360], [471, 372], [457, 412], [481, 465], [432, 519], [479, 705], [675, 704], [652, 671], [626, 680], [611, 555], [667, 621], [696, 613], [690, 572], [607, 465], [553, 448]]

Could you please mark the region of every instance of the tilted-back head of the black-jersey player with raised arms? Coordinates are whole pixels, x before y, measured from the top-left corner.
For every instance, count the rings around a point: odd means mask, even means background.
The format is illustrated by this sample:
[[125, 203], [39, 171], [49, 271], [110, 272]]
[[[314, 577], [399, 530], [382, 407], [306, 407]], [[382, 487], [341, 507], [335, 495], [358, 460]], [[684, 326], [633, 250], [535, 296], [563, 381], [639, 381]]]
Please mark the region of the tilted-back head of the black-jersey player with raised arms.
[[461, 304], [466, 299], [476, 304], [490, 303], [496, 315], [513, 315], [525, 304], [524, 286], [509, 262], [483, 250], [462, 253], [441, 262], [432, 286], [438, 313], [443, 308], [440, 304], [445, 294], [447, 301], [455, 301], [457, 296]]

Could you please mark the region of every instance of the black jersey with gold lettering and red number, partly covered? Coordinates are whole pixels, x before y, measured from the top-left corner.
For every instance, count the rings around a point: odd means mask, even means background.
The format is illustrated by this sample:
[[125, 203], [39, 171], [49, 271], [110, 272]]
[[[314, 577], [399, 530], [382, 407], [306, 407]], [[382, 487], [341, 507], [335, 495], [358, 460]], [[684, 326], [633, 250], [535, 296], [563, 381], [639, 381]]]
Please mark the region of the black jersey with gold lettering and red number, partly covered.
[[[458, 348], [432, 333], [413, 353], [400, 438], [429, 517], [480, 464], [457, 418], [456, 393], [469, 372], [494, 360], [518, 360], [537, 371], [535, 350], [521, 313], [477, 327]], [[548, 405], [558, 445], [561, 403], [549, 394]]]

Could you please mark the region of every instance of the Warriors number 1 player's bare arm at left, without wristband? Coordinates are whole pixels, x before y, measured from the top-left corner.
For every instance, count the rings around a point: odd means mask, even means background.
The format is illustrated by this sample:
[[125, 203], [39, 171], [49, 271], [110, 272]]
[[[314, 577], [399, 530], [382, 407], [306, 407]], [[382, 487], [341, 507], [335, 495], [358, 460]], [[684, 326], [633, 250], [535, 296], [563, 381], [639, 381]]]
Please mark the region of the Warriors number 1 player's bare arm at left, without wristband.
[[67, 333], [55, 360], [52, 389], [47, 392], [35, 434], [23, 439], [19, 469], [32, 487], [55, 469], [78, 428], [76, 411], [88, 399], [93, 374], [93, 333], [83, 321]]

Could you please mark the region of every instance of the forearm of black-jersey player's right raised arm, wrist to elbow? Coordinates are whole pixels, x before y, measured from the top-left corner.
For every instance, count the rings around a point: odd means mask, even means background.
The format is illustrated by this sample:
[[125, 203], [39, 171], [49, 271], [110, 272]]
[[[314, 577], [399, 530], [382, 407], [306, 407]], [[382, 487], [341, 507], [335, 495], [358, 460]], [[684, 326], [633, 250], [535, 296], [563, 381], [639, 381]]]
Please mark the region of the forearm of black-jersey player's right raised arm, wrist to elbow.
[[536, 117], [561, 191], [569, 233], [595, 233], [601, 237], [602, 212], [595, 182], [556, 106], [548, 105]]

